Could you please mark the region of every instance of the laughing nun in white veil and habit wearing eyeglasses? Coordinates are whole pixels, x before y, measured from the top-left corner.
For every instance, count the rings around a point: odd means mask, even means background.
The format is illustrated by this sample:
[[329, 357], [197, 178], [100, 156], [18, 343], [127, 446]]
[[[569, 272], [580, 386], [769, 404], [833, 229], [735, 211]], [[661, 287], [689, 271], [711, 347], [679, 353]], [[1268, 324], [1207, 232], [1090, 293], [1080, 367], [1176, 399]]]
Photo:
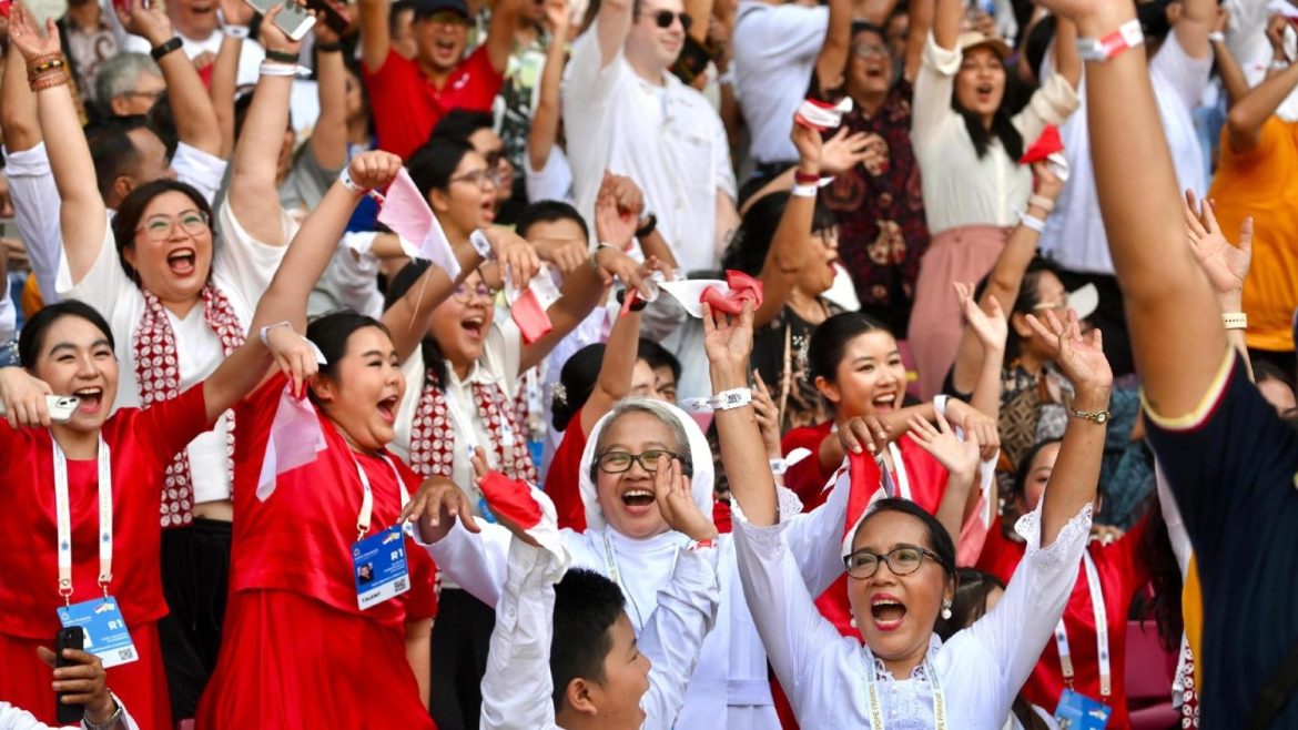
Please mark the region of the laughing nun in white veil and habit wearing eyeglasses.
[[[749, 327], [752, 316], [749, 308]], [[765, 455], [759, 459], [766, 462]], [[688, 521], [668, 522], [659, 507], [661, 496], [654, 492], [654, 472], [672, 461], [685, 474], [698, 507]], [[622, 587], [627, 616], [654, 670], [678, 670], [688, 657], [672, 652], [672, 647], [681, 646], [676, 636], [661, 633], [659, 626], [670, 622], [674, 608], [661, 601], [659, 591], [670, 581], [681, 546], [716, 535], [711, 522], [715, 473], [707, 440], [697, 422], [676, 407], [630, 399], [596, 422], [580, 464], [587, 527], [583, 533], [561, 530], [572, 564]], [[805, 579], [816, 594], [842, 573], [833, 546], [842, 531], [848, 490], [833, 494], [826, 505], [802, 514], [797, 499], [785, 492], [784, 513], [792, 521], [788, 539], [793, 553], [806, 557], [798, 581]], [[419, 520], [422, 540], [445, 575], [496, 605], [506, 573], [509, 533], [475, 521], [454, 485], [426, 486], [411, 505], [408, 513]], [[715, 539], [722, 588], [716, 625], [702, 642], [698, 666], [684, 692], [665, 700], [672, 707], [655, 707], [650, 714], [675, 718], [672, 726], [681, 730], [776, 730], [780, 722], [771, 699], [766, 653], [740, 592], [733, 543], [728, 535]]]

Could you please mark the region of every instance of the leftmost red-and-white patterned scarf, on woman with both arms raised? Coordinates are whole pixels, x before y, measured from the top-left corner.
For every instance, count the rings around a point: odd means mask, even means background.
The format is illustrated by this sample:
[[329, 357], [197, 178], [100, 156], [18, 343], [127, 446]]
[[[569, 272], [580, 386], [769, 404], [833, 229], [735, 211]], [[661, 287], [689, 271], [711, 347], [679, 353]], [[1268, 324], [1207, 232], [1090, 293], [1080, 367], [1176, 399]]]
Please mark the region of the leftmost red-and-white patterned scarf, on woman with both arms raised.
[[[135, 378], [140, 386], [140, 405], [148, 408], [154, 403], [171, 400], [180, 395], [180, 359], [175, 347], [175, 333], [171, 321], [158, 297], [147, 290], [144, 295], [144, 314], [131, 348], [135, 352]], [[243, 347], [244, 331], [226, 295], [210, 283], [202, 287], [202, 318], [217, 336], [226, 357]], [[226, 431], [226, 459], [234, 479], [235, 455], [235, 414], [230, 417], [230, 430]], [[193, 491], [190, 475], [190, 455], [180, 449], [166, 468], [166, 482], [162, 487], [162, 527], [179, 527], [193, 522]]]

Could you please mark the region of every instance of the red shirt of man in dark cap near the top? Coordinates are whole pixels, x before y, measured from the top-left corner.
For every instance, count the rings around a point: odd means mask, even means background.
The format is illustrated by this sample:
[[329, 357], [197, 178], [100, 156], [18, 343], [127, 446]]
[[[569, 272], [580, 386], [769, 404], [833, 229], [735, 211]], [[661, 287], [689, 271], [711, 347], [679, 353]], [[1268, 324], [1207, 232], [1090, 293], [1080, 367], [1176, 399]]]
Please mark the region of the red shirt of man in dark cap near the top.
[[491, 112], [504, 81], [492, 68], [485, 45], [461, 61], [441, 88], [428, 83], [419, 64], [402, 58], [396, 49], [388, 51], [382, 66], [365, 69], [379, 148], [409, 157], [428, 142], [447, 112]]

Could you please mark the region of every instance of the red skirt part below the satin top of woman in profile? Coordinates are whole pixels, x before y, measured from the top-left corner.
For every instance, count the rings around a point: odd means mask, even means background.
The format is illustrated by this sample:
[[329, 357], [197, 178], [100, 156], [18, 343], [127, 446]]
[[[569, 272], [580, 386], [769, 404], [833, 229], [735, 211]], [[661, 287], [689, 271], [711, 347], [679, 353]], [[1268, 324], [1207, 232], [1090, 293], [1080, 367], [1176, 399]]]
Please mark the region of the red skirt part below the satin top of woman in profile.
[[405, 638], [387, 625], [309, 596], [248, 590], [230, 596], [226, 638], [199, 703], [200, 730], [435, 727]]

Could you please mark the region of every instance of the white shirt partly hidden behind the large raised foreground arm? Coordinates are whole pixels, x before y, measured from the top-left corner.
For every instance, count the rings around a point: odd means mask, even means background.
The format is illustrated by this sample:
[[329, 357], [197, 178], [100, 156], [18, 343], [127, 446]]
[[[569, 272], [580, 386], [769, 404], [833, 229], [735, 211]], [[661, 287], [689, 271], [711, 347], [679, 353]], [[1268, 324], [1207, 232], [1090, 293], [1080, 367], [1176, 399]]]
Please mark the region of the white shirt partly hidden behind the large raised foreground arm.
[[[1211, 69], [1212, 56], [1186, 56], [1175, 31], [1167, 35], [1149, 66], [1159, 118], [1176, 168], [1176, 181], [1181, 190], [1193, 190], [1201, 200], [1207, 194], [1207, 179], [1203, 174], [1203, 148], [1194, 130], [1192, 112], [1203, 95]], [[1081, 96], [1085, 99], [1084, 94]], [[1099, 216], [1085, 108], [1059, 127], [1059, 138], [1063, 140], [1064, 157], [1068, 158], [1068, 182], [1055, 201], [1054, 212], [1046, 218], [1041, 252], [1066, 269], [1111, 275], [1114, 260], [1108, 255], [1108, 236]]]

